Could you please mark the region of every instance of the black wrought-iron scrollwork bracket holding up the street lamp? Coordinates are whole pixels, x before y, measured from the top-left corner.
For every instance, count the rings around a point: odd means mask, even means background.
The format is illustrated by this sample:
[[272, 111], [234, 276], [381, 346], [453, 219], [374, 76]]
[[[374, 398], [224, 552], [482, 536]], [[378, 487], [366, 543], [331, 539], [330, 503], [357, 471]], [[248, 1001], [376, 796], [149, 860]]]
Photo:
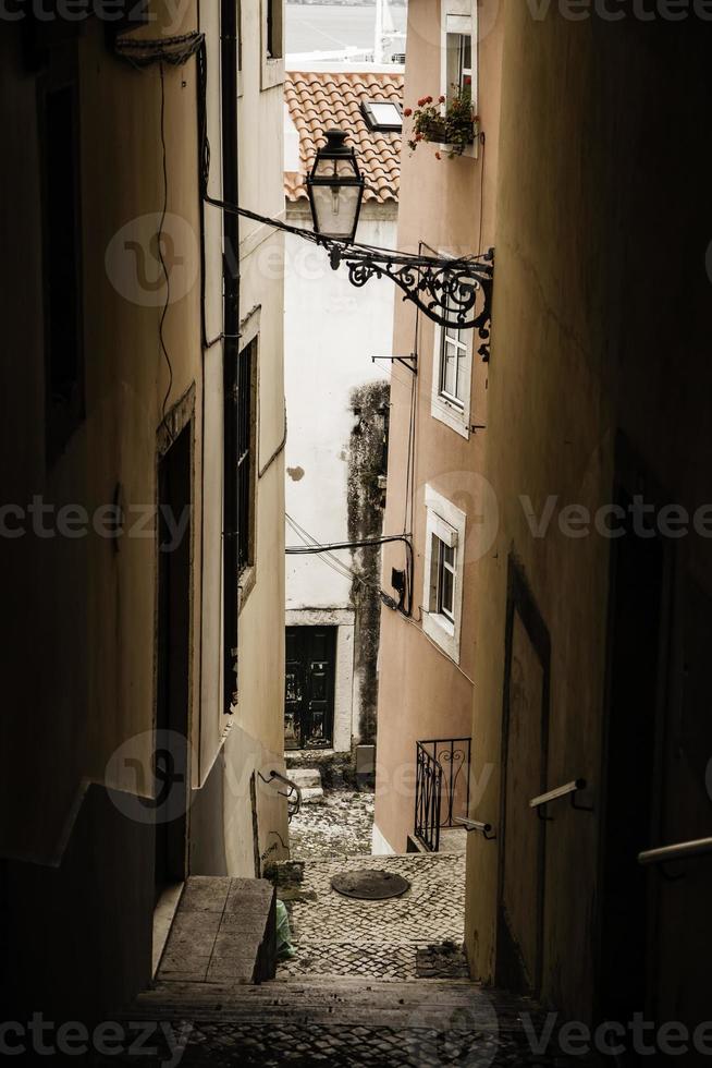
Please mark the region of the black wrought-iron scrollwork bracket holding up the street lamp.
[[371, 278], [390, 278], [403, 290], [403, 299], [417, 305], [434, 323], [454, 330], [477, 330], [482, 342], [478, 353], [484, 363], [489, 361], [493, 248], [482, 256], [435, 259], [346, 246], [339, 242], [323, 243], [333, 269], [345, 263], [348, 280], [358, 289]]

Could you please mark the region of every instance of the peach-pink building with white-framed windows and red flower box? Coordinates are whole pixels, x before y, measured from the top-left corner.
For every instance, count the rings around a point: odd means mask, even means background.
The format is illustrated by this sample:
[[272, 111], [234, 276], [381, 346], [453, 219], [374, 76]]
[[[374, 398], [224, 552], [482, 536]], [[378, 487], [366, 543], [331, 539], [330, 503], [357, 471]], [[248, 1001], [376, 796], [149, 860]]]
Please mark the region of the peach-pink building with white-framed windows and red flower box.
[[[427, 96], [447, 96], [455, 83], [468, 84], [480, 125], [474, 143], [449, 158], [445, 149], [425, 142], [413, 153], [405, 144], [413, 139], [406, 120], [400, 248], [462, 256], [484, 253], [493, 244], [501, 64], [496, 26], [477, 48], [478, 26], [491, 19], [488, 3], [415, 0], [408, 8], [406, 107], [415, 109]], [[478, 54], [475, 65], [472, 54]], [[417, 768], [431, 772], [434, 750], [438, 757], [444, 751], [452, 757], [446, 774], [453, 784], [453, 814], [467, 811], [476, 545], [486, 536], [480, 472], [488, 433], [488, 364], [479, 347], [472, 331], [449, 332], [410, 304], [397, 306], [393, 351], [415, 352], [417, 373], [403, 364], [393, 369], [384, 526], [412, 537], [414, 563], [410, 568], [402, 545], [384, 549], [384, 588], [397, 596], [390, 588], [392, 571], [405, 572], [410, 605], [407, 615], [383, 609], [381, 620], [377, 852], [403, 852], [408, 838], [412, 848], [422, 845], [415, 835]], [[443, 605], [445, 563], [453, 581]], [[418, 749], [419, 742], [443, 744]], [[427, 822], [432, 825], [432, 813]], [[418, 823], [422, 833], [422, 821]]]

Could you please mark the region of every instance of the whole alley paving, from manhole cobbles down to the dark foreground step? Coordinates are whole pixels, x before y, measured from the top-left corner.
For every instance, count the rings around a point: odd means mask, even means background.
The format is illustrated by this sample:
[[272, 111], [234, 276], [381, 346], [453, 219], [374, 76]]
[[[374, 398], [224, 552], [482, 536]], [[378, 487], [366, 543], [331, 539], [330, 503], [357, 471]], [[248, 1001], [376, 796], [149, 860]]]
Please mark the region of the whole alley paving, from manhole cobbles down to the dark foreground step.
[[[361, 867], [403, 875], [410, 889], [354, 900], [333, 875]], [[464, 858], [343, 855], [280, 865], [297, 956], [262, 985], [161, 983], [127, 1010], [144, 1052], [99, 1065], [182, 1068], [564, 1068], [531, 1003], [462, 975]], [[457, 972], [457, 969], [461, 969]], [[444, 978], [446, 976], [446, 978]], [[527, 1019], [529, 1017], [530, 1019]], [[122, 1018], [122, 1017], [119, 1017]], [[144, 1036], [145, 1037], [145, 1036]], [[180, 1040], [181, 1048], [175, 1048]], [[148, 1046], [148, 1048], [146, 1048]], [[152, 1048], [150, 1048], [152, 1046]], [[577, 1059], [576, 1065], [585, 1061]]]

